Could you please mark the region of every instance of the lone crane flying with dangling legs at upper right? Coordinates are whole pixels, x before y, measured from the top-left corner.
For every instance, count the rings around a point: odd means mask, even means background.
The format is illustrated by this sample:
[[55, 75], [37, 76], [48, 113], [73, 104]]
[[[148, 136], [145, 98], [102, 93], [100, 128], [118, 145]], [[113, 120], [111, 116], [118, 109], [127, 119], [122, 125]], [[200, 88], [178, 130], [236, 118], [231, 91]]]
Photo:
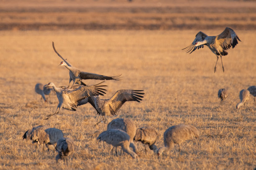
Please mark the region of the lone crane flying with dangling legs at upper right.
[[226, 27], [225, 30], [217, 36], [208, 36], [204, 32], [200, 31], [197, 33], [196, 38], [192, 42], [192, 44], [186, 48], [183, 48], [182, 50], [186, 50], [186, 52], [190, 52], [189, 54], [191, 54], [196, 49], [200, 49], [201, 47], [203, 48], [204, 45], [207, 45], [210, 50], [217, 56], [214, 72], [216, 72], [216, 65], [219, 56], [224, 72], [222, 56], [228, 55], [228, 52], [226, 50], [228, 50], [231, 46], [232, 48], [234, 48], [238, 44], [237, 40], [241, 41], [236, 35], [236, 32], [228, 27]]

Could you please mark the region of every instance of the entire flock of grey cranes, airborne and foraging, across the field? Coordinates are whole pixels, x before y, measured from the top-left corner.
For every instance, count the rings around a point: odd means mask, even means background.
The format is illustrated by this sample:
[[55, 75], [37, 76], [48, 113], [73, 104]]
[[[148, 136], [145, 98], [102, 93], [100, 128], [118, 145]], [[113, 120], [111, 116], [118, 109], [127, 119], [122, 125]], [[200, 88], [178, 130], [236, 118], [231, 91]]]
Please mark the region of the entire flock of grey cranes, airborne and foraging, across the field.
[[[216, 72], [216, 65], [218, 58], [220, 56], [221, 62], [224, 55], [228, 55], [228, 50], [231, 46], [234, 48], [238, 44], [238, 36], [231, 28], [225, 28], [225, 30], [217, 36], [207, 36], [203, 32], [198, 32], [195, 40], [191, 45], [182, 49], [187, 50], [187, 52], [193, 52], [196, 49], [200, 49], [207, 45], [210, 50], [217, 56], [217, 61], [215, 64], [214, 72]], [[56, 87], [53, 82], [49, 82], [47, 85], [36, 84], [35, 91], [42, 96], [44, 101], [46, 100], [45, 95], [49, 95], [51, 90], [56, 92], [56, 96], [59, 100], [57, 109], [54, 113], [46, 116], [45, 120], [48, 120], [51, 116], [56, 115], [60, 110], [72, 110], [76, 111], [77, 107], [80, 105], [87, 104], [88, 102], [95, 108], [97, 114], [102, 116], [100, 122], [106, 122], [106, 116], [116, 115], [120, 107], [127, 101], [140, 102], [143, 98], [143, 90], [118, 90], [109, 99], [101, 99], [100, 95], [106, 94], [105, 87], [107, 85], [102, 85], [100, 82], [96, 85], [86, 85], [82, 80], [96, 79], [96, 80], [117, 80], [120, 81], [120, 75], [118, 76], [105, 76], [90, 72], [84, 72], [78, 68], [72, 66], [67, 59], [64, 59], [55, 49], [54, 42], [52, 43], [53, 49], [56, 54], [61, 57], [60, 65], [65, 66], [69, 70], [69, 85]], [[223, 72], [224, 66], [222, 62]], [[72, 86], [70, 83], [73, 81]], [[77, 84], [77, 85], [75, 85]], [[51, 88], [52, 87], [52, 88]], [[254, 102], [256, 97], [256, 86], [248, 87], [247, 90], [243, 89], [240, 92], [241, 102], [236, 106], [237, 109], [245, 104], [249, 99], [250, 94], [254, 96]], [[218, 91], [218, 97], [220, 98], [220, 103], [228, 97], [226, 89], [220, 89]], [[98, 122], [98, 123], [100, 123]], [[97, 124], [98, 124], [97, 123]], [[96, 124], [96, 125], [97, 125]], [[128, 118], [117, 118], [108, 123], [107, 130], [103, 131], [98, 135], [97, 140], [106, 142], [113, 146], [110, 153], [113, 155], [113, 149], [115, 148], [116, 156], [118, 156], [118, 146], [121, 147], [120, 155], [127, 153], [131, 155], [132, 158], [138, 158], [139, 150], [134, 141], [141, 141], [145, 145], [149, 146], [154, 153], [160, 157], [162, 153], [167, 150], [171, 150], [174, 144], [179, 145], [179, 155], [181, 150], [181, 144], [186, 140], [191, 140], [194, 138], [199, 138], [200, 133], [197, 128], [192, 125], [174, 125], [168, 128], [164, 132], [164, 146], [157, 147], [156, 141], [158, 139], [158, 134], [154, 128], [151, 127], [141, 127], [136, 128], [134, 122]], [[34, 127], [23, 135], [23, 139], [32, 140], [32, 143], [36, 143], [36, 155], [38, 145], [46, 145], [49, 149], [56, 150], [58, 155], [56, 155], [56, 162], [59, 159], [64, 160], [66, 164], [68, 163], [68, 156], [74, 153], [74, 141], [71, 138], [64, 138], [64, 134], [61, 130], [56, 128], [50, 128], [47, 126], [37, 126]], [[54, 146], [54, 149], [52, 149]], [[44, 150], [44, 147], [43, 147]]]

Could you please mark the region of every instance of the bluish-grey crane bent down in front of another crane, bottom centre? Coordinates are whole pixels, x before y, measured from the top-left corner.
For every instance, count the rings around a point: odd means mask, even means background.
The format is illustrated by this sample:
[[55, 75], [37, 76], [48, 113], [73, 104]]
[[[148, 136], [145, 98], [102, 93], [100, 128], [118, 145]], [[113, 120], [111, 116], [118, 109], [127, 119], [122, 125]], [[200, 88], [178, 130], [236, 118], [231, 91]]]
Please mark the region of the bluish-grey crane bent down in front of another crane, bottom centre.
[[122, 150], [125, 153], [128, 153], [133, 158], [138, 158], [138, 155], [132, 150], [130, 150], [130, 147], [129, 147], [130, 136], [123, 130], [119, 130], [119, 129], [106, 130], [98, 136], [97, 140], [106, 142], [112, 145], [113, 147], [121, 146]]

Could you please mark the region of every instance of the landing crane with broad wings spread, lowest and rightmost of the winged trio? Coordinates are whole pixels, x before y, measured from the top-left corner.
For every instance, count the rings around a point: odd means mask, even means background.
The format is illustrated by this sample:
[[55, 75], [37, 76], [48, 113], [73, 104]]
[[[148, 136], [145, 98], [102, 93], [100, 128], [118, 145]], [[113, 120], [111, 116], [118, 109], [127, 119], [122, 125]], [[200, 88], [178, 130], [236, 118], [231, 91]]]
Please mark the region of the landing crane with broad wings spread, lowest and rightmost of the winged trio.
[[[116, 115], [116, 112], [120, 109], [120, 107], [127, 101], [137, 101], [140, 102], [143, 98], [141, 91], [143, 90], [118, 90], [115, 94], [109, 99], [100, 99], [99, 96], [94, 97], [90, 96], [84, 100], [81, 100], [78, 103], [79, 105], [84, 105], [89, 102], [97, 111], [97, 114], [102, 116], [102, 121], [106, 121], [106, 115]], [[105, 119], [104, 117], [105, 116]], [[99, 124], [100, 122], [97, 122]], [[97, 125], [96, 124], [96, 125]]]

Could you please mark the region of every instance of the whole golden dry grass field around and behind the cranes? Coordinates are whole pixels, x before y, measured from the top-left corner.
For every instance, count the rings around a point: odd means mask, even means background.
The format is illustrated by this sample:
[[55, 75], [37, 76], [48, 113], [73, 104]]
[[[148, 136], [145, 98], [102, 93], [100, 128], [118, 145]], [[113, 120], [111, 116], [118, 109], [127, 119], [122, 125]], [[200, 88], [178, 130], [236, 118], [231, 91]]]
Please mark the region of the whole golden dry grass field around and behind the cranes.
[[[225, 27], [242, 40], [217, 64], [205, 47], [187, 54], [200, 30], [218, 35]], [[0, 169], [65, 169], [55, 155], [36, 158], [31, 142], [22, 140], [36, 125], [59, 128], [75, 141], [70, 169], [253, 169], [256, 167], [256, 105], [253, 97], [236, 110], [239, 92], [256, 85], [256, 2], [181, 0], [0, 1]], [[141, 103], [125, 103], [116, 117], [136, 126], [151, 126], [159, 134], [179, 123], [194, 125], [201, 137], [175, 146], [161, 159], [141, 143], [140, 160], [109, 156], [110, 146], [96, 138], [106, 125], [91, 105], [76, 112], [55, 112], [56, 96], [43, 103], [36, 83], [68, 85], [68, 70], [58, 67], [56, 50], [75, 67], [104, 75], [108, 98], [116, 90], [145, 90]], [[97, 80], [84, 81], [95, 84]], [[228, 98], [220, 105], [220, 88]]]

